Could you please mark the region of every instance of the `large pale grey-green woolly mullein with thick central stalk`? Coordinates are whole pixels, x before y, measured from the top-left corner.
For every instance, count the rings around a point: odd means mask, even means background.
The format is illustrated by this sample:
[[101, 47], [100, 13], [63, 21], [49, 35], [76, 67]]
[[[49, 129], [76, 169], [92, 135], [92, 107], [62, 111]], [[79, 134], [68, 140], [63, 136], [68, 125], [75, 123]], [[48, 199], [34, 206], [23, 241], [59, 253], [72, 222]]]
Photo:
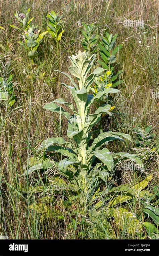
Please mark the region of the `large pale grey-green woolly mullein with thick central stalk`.
[[[110, 141], [119, 140], [124, 143], [124, 139], [131, 141], [130, 135], [108, 131], [96, 137], [99, 130], [93, 130], [93, 127], [98, 124], [103, 113], [112, 115], [111, 105], [103, 104], [93, 114], [90, 114], [90, 107], [103, 95], [119, 93], [119, 90], [109, 87], [98, 92], [96, 96], [89, 93], [94, 78], [100, 76], [104, 71], [103, 68], [98, 67], [89, 74], [93, 68], [95, 57], [95, 55], [88, 57], [87, 52], [81, 51], [68, 57], [72, 64], [69, 67], [69, 72], [76, 81], [67, 73], [55, 70], [69, 78], [72, 85], [64, 83], [61, 85], [69, 90], [74, 103], [59, 98], [46, 104], [44, 108], [58, 113], [60, 118], [64, 116], [67, 119], [68, 140], [64, 140], [62, 137], [44, 140], [37, 148], [37, 156], [42, 155], [43, 160], [41, 162], [39, 160], [36, 165], [31, 166], [23, 174], [28, 176], [34, 171], [56, 166], [58, 174], [54, 177], [55, 183], [53, 183], [52, 188], [49, 186], [46, 191], [53, 189], [56, 193], [57, 188], [61, 188], [68, 201], [76, 200], [81, 205], [83, 214], [86, 213], [86, 205], [88, 208], [91, 207], [91, 200], [102, 190], [102, 182], [106, 183], [107, 179], [112, 177], [118, 161], [130, 159], [136, 164], [142, 163], [137, 155], [124, 152], [111, 153], [106, 148], [106, 143]], [[61, 105], [66, 105], [71, 114], [64, 110]], [[59, 154], [61, 161], [57, 161], [57, 157], [50, 159], [48, 155], [50, 152]]]

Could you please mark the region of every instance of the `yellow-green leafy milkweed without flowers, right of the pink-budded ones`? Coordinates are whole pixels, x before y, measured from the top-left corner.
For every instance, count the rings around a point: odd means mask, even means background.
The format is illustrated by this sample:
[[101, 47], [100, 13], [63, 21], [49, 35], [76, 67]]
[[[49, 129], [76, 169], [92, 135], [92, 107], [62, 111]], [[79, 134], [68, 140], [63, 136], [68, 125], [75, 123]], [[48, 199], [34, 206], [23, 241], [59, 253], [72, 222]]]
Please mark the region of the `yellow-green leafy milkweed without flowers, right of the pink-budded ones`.
[[58, 42], [62, 38], [62, 34], [64, 32], [63, 29], [63, 23], [64, 21], [62, 20], [63, 15], [60, 15], [59, 13], [55, 13], [54, 11], [51, 11], [48, 15], [48, 32], [51, 35], [51, 37], [54, 38], [56, 41], [56, 45], [58, 47]]

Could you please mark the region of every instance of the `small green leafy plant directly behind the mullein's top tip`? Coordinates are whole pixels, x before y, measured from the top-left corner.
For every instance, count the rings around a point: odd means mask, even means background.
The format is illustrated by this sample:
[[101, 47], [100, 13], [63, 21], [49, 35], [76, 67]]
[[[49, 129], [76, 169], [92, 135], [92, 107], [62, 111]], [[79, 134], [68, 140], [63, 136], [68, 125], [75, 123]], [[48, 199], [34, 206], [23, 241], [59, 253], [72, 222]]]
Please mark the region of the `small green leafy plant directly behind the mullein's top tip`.
[[83, 29], [83, 39], [82, 39], [82, 45], [84, 47], [84, 50], [86, 50], [89, 53], [96, 53], [97, 52], [97, 41], [98, 41], [98, 35], [95, 33], [95, 30], [97, 29], [94, 25], [94, 23], [90, 25], [86, 25], [84, 22], [82, 23]]

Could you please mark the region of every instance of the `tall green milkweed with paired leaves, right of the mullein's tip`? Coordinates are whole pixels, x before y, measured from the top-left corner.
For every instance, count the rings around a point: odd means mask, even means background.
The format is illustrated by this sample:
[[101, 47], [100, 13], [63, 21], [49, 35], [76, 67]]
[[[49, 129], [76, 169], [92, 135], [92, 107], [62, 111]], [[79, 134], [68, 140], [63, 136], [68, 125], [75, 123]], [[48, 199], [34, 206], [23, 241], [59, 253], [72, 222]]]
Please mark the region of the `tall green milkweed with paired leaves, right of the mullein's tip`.
[[[113, 83], [119, 74], [121, 74], [122, 70], [119, 70], [116, 74], [114, 74], [114, 63], [116, 61], [115, 54], [119, 52], [122, 47], [122, 44], [119, 44], [115, 47], [116, 38], [118, 34], [114, 36], [106, 32], [106, 37], [102, 37], [102, 41], [98, 44], [100, 55], [102, 58], [98, 60], [98, 63], [106, 70], [111, 71], [111, 83], [113, 84], [112, 87], [116, 87], [119, 84], [123, 83], [120, 79], [119, 81]], [[115, 47], [115, 48], [114, 48]]]

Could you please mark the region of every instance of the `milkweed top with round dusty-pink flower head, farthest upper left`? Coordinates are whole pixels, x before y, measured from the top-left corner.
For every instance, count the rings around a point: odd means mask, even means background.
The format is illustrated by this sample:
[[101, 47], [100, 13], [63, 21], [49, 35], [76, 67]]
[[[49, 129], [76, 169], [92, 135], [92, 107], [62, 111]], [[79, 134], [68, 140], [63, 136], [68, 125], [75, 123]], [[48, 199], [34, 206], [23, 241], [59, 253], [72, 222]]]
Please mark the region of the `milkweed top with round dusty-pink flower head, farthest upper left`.
[[29, 14], [30, 14], [30, 8], [27, 10], [26, 13], [18, 13], [16, 12], [14, 16], [16, 17], [17, 22], [19, 23], [19, 27], [15, 25], [10, 25], [10, 27], [15, 28], [19, 31], [24, 31], [30, 28], [30, 23], [34, 18], [29, 19]]

